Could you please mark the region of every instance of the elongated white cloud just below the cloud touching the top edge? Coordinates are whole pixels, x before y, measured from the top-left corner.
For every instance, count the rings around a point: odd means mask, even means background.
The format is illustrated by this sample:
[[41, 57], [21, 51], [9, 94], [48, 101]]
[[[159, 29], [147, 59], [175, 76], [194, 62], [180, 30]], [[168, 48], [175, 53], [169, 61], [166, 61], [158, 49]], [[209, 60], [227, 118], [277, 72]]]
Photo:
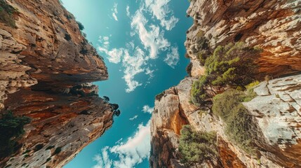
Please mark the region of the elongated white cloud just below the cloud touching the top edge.
[[147, 19], [142, 15], [142, 8], [138, 10], [133, 16], [131, 27], [139, 35], [142, 45], [146, 50], [149, 50], [149, 57], [156, 59], [159, 51], [167, 50], [170, 46], [169, 41], [164, 38], [164, 31], [160, 31], [160, 28], [155, 25], [149, 26], [147, 31], [145, 25], [147, 25]]

